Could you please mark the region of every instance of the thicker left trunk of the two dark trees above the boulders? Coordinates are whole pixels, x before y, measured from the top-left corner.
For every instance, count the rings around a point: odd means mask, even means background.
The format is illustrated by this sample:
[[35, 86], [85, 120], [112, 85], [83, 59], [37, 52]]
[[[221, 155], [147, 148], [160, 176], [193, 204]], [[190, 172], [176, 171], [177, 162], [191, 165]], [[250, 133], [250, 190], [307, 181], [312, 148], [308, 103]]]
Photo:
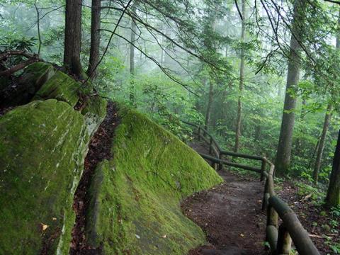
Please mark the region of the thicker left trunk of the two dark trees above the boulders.
[[67, 0], [65, 9], [64, 67], [81, 75], [81, 0]]

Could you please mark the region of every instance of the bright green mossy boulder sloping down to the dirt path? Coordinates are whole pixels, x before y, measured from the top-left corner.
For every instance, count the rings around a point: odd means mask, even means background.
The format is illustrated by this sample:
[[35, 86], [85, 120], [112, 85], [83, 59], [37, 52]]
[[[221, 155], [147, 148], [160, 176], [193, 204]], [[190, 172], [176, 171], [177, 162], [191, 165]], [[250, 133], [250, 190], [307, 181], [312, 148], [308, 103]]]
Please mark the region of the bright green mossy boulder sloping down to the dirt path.
[[203, 231], [180, 201], [222, 182], [191, 148], [135, 111], [122, 109], [111, 161], [96, 169], [87, 242], [104, 254], [188, 254]]

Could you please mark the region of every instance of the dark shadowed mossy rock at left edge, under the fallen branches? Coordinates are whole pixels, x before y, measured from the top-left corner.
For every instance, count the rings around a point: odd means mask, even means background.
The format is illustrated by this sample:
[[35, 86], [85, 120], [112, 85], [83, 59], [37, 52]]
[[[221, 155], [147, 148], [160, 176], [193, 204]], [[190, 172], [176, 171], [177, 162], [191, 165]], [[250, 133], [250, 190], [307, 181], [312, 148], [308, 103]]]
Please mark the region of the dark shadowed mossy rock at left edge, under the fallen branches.
[[18, 78], [16, 86], [3, 85], [0, 93], [0, 106], [18, 106], [28, 103], [42, 84], [45, 84], [55, 72], [52, 64], [43, 62], [30, 64]]

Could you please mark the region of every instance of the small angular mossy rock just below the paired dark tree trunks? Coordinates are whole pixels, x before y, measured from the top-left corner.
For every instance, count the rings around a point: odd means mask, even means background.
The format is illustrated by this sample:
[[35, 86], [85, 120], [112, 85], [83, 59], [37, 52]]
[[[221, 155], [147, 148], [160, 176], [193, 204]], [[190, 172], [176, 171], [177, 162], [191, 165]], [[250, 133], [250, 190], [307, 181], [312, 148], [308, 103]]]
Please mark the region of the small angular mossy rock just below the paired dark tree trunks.
[[81, 84], [63, 72], [57, 71], [35, 94], [33, 100], [55, 98], [74, 107], [79, 100]]

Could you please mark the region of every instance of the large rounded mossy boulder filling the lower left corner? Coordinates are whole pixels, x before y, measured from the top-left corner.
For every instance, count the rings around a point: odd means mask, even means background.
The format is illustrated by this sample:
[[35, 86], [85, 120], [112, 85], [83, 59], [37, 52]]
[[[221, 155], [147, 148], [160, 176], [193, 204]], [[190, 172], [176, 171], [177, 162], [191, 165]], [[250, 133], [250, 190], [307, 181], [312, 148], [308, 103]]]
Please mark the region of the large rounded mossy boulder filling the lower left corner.
[[0, 118], [0, 140], [0, 254], [67, 254], [89, 143], [84, 116], [33, 101]]

